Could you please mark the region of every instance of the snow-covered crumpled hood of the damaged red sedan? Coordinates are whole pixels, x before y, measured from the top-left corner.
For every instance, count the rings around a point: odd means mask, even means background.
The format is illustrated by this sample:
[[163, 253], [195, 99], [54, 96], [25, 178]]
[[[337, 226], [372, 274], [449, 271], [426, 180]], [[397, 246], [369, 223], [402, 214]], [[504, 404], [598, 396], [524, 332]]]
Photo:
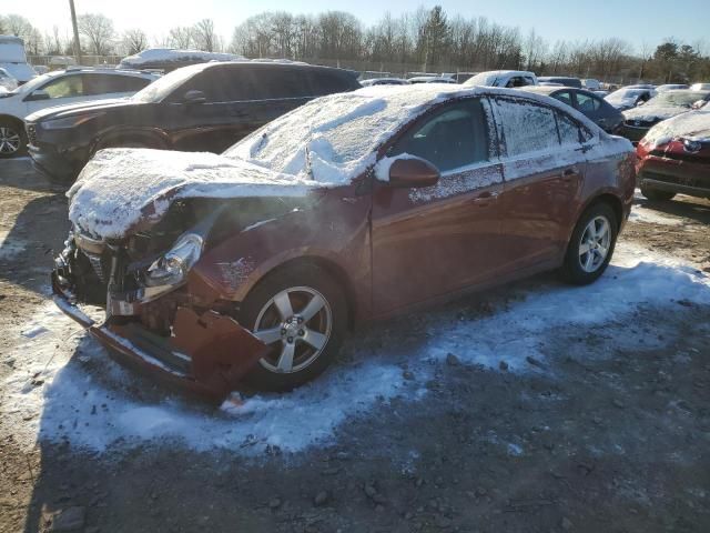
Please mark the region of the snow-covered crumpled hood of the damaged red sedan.
[[305, 197], [323, 187], [214, 153], [99, 151], [67, 192], [69, 219], [98, 239], [121, 239], [158, 222], [185, 198]]

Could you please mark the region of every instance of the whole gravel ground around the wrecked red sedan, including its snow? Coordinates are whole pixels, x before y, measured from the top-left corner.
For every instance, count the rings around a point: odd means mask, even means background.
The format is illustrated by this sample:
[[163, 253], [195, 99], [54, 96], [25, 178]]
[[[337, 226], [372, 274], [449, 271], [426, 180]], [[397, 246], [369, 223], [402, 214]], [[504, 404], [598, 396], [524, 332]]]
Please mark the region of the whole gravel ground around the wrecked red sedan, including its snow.
[[52, 310], [62, 191], [27, 160], [0, 191], [0, 532], [710, 531], [710, 202], [639, 199], [590, 288], [377, 324], [212, 410]]

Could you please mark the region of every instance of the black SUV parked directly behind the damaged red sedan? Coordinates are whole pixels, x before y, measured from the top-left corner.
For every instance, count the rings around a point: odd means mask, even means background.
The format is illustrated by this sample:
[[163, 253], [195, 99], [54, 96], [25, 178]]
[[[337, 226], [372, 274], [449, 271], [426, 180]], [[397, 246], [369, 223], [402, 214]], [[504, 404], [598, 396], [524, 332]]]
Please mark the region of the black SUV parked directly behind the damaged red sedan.
[[130, 99], [65, 105], [26, 119], [32, 161], [54, 181], [77, 178], [102, 148], [221, 153], [313, 98], [358, 89], [357, 72], [276, 61], [193, 64]]

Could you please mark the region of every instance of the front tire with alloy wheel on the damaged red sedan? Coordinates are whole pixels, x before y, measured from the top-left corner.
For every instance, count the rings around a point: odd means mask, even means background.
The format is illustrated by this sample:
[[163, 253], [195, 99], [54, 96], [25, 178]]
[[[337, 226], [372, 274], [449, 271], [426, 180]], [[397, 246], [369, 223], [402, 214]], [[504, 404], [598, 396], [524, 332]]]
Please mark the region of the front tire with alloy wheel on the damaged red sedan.
[[295, 264], [268, 274], [247, 294], [239, 322], [272, 346], [247, 381], [261, 390], [288, 391], [335, 359], [347, 330], [347, 304], [327, 272]]

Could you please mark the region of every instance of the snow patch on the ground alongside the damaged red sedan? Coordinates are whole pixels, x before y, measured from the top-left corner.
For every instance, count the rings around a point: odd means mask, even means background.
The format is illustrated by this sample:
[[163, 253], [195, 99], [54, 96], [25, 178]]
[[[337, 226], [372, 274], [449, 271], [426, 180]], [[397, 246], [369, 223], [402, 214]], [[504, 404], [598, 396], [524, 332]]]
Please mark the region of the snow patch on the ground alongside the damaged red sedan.
[[[13, 434], [26, 447], [38, 441], [68, 441], [103, 452], [179, 443], [243, 455], [273, 446], [296, 453], [332, 442], [338, 426], [389, 399], [420, 401], [434, 368], [448, 353], [462, 364], [498, 371], [499, 362], [506, 361], [509, 372], [528, 372], [526, 358], [544, 361], [545, 344], [568, 326], [589, 334], [604, 328], [615, 349], [630, 346], [639, 340], [630, 334], [628, 321], [640, 306], [672, 312], [679, 300], [709, 305], [710, 279], [677, 259], [622, 243], [595, 284], [546, 282], [518, 295], [523, 299], [489, 316], [466, 319], [454, 311], [422, 315], [417, 320], [424, 326], [417, 331], [426, 335], [406, 346], [392, 342], [373, 348], [382, 344], [372, 342], [381, 336], [368, 338], [383, 334], [377, 330], [352, 339], [348, 364], [336, 365], [315, 382], [286, 394], [236, 396], [216, 411], [181, 396], [156, 396], [150, 382], [113, 363], [81, 328], [47, 304], [17, 330], [19, 344], [8, 358], [12, 366], [0, 405], [0, 434]], [[42, 334], [22, 335], [42, 329]], [[653, 342], [668, 341], [650, 341], [648, 348]], [[595, 350], [586, 346], [579, 356], [595, 356]], [[515, 446], [507, 451], [518, 453]]]

